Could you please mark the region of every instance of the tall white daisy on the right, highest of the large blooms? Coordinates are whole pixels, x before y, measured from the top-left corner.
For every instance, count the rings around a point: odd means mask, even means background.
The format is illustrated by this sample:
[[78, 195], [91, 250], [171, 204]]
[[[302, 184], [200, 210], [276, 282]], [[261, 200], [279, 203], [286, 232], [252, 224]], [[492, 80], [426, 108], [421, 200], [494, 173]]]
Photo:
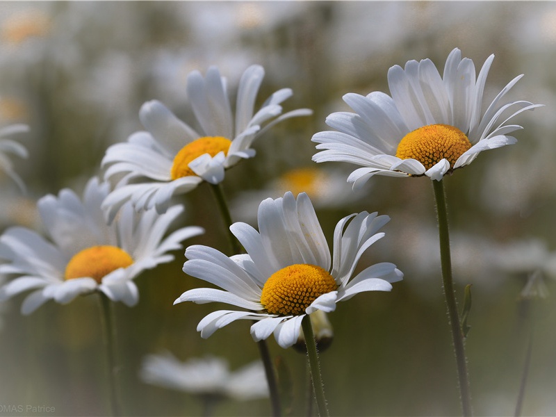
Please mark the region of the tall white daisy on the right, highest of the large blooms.
[[[439, 74], [430, 59], [410, 60], [388, 72], [391, 97], [348, 93], [345, 103], [356, 113], [332, 113], [326, 124], [337, 131], [313, 135], [313, 161], [343, 161], [361, 165], [347, 181], [359, 188], [375, 174], [391, 177], [426, 175], [440, 181], [445, 174], [469, 165], [480, 152], [516, 142], [508, 133], [522, 129], [507, 124], [522, 111], [540, 105], [502, 100], [516, 76], [484, 106], [484, 86], [494, 56], [475, 79], [475, 65], [454, 49]], [[485, 110], [486, 107], [486, 110]], [[511, 109], [511, 110], [510, 110]], [[502, 117], [505, 113], [509, 117]], [[500, 122], [502, 120], [502, 122]]]

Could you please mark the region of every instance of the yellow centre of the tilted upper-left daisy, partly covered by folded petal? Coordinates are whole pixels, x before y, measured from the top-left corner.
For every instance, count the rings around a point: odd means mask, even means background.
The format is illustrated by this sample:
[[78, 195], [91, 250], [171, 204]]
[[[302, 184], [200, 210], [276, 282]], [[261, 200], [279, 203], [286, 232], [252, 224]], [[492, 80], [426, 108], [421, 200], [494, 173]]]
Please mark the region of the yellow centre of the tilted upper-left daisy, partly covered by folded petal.
[[227, 154], [230, 145], [231, 140], [222, 136], [204, 136], [203, 138], [193, 140], [193, 142], [181, 148], [174, 158], [171, 172], [172, 179], [195, 175], [195, 172], [188, 167], [191, 161], [204, 154], [209, 154], [210, 156], [216, 156], [218, 152]]

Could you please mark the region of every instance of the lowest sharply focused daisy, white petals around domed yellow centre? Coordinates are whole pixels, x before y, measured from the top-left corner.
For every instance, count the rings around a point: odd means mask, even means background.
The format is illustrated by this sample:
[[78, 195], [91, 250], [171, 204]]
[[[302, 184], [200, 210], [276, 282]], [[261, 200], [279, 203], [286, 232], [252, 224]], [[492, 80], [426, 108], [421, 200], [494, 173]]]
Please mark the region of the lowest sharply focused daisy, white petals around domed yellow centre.
[[363, 291], [390, 291], [390, 283], [402, 279], [402, 272], [392, 263], [377, 263], [352, 278], [359, 258], [384, 236], [377, 231], [389, 220], [386, 215], [367, 212], [343, 218], [334, 231], [332, 257], [305, 193], [297, 199], [291, 192], [265, 199], [259, 206], [259, 232], [242, 222], [230, 227], [247, 254], [229, 258], [202, 245], [186, 250], [183, 272], [224, 291], [193, 289], [174, 304], [224, 302], [248, 310], [208, 314], [197, 326], [203, 338], [234, 320], [250, 319], [256, 320], [251, 327], [255, 341], [274, 333], [279, 345], [289, 347], [297, 341], [307, 314], [334, 311], [336, 302]]

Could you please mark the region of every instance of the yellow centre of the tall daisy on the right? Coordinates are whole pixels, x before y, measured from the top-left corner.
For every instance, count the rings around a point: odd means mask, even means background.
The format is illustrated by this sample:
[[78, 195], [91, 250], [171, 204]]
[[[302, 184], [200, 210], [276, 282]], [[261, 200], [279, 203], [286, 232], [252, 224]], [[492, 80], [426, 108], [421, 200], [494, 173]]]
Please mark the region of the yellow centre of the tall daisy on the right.
[[416, 159], [427, 170], [443, 158], [450, 162], [450, 168], [464, 152], [471, 148], [465, 133], [448, 124], [430, 124], [407, 133], [395, 156], [401, 159]]

